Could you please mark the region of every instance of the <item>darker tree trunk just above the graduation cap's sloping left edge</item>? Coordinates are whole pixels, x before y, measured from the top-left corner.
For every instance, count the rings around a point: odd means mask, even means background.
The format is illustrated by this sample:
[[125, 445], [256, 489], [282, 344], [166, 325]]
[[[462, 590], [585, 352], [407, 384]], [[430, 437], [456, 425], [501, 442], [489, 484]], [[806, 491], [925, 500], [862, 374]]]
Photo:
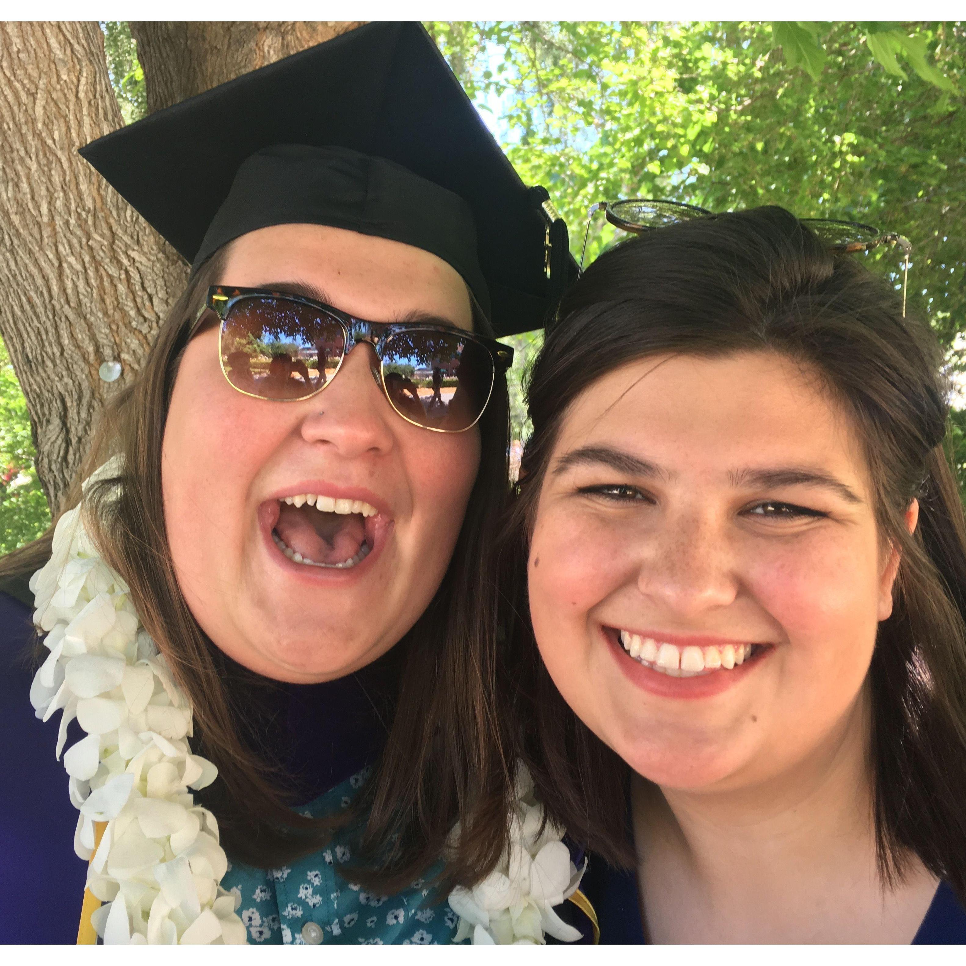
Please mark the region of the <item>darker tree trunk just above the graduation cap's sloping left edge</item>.
[[166, 23], [132, 22], [144, 68], [148, 111], [194, 97], [242, 73], [265, 67], [316, 43], [331, 40], [356, 22]]

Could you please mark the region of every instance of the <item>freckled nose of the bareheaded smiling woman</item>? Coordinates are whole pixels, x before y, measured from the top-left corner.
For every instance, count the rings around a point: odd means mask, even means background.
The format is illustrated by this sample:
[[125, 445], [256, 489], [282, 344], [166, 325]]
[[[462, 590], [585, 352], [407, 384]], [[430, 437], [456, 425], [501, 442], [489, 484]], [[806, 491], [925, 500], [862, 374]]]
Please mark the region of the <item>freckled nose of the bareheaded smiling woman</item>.
[[739, 587], [726, 527], [710, 514], [668, 515], [648, 533], [638, 588], [665, 611], [691, 617], [727, 607]]

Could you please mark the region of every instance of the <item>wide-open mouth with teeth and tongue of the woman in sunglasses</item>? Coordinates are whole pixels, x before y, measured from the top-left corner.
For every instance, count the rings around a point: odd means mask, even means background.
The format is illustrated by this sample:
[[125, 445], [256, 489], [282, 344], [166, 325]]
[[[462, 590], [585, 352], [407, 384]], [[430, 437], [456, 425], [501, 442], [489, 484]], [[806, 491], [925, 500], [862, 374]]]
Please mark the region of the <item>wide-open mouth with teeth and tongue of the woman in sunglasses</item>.
[[271, 539], [295, 563], [348, 570], [372, 552], [378, 513], [361, 499], [312, 493], [284, 497], [278, 501]]

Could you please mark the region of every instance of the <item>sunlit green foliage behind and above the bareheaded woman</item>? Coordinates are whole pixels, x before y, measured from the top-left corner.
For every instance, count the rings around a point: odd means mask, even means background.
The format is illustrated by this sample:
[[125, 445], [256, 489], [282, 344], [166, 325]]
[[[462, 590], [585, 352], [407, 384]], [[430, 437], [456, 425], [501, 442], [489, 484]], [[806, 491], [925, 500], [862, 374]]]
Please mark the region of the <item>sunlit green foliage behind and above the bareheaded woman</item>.
[[[780, 204], [907, 236], [910, 309], [947, 347], [966, 329], [963, 24], [427, 27], [524, 182], [550, 190], [576, 257], [601, 200]], [[586, 261], [613, 237], [595, 215]], [[867, 259], [899, 285], [895, 249]], [[951, 355], [954, 369], [963, 355]]]

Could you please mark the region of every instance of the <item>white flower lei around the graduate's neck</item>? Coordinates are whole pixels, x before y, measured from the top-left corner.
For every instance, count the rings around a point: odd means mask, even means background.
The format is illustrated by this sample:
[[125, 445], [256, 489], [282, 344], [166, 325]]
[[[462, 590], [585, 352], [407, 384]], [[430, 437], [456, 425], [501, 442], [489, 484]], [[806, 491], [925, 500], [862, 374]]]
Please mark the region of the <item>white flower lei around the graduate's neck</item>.
[[[84, 489], [121, 467], [119, 458], [105, 464]], [[62, 712], [58, 759], [71, 721], [87, 733], [64, 754], [64, 767], [80, 811], [74, 851], [93, 857], [87, 888], [104, 903], [91, 917], [98, 935], [105, 944], [244, 944], [240, 897], [221, 888], [228, 860], [217, 822], [189, 791], [211, 784], [217, 769], [191, 753], [190, 702], [141, 626], [128, 584], [85, 530], [79, 505], [58, 521], [51, 557], [30, 589], [50, 652], [31, 703], [44, 722]], [[543, 814], [521, 764], [507, 852], [472, 890], [449, 896], [460, 916], [457, 942], [581, 937], [552, 907], [573, 895], [583, 869], [570, 861], [561, 829], [547, 822], [540, 833]], [[106, 822], [97, 846], [96, 822]]]

